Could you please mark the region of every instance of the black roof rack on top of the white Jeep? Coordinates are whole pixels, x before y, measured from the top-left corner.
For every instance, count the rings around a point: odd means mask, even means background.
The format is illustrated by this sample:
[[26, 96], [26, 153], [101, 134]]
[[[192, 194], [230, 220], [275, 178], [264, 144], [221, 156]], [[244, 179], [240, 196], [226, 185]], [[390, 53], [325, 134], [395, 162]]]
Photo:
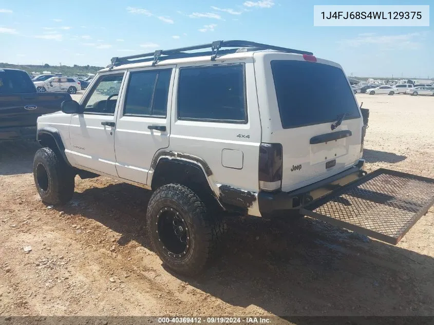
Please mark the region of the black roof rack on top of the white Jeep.
[[[192, 53], [186, 52], [186, 51], [195, 51], [195, 50], [209, 49], [209, 48], [211, 48], [211, 51], [192, 52]], [[222, 48], [231, 48], [231, 49], [222, 50]], [[235, 53], [239, 48], [246, 48], [247, 50], [250, 51], [275, 50], [275, 51], [285, 52], [285, 53], [313, 55], [312, 52], [294, 50], [286, 47], [280, 47], [280, 46], [274, 46], [274, 45], [268, 45], [268, 44], [250, 42], [250, 41], [240, 41], [240, 40], [214, 41], [213, 43], [208, 43], [208, 44], [193, 45], [193, 46], [181, 47], [181, 48], [171, 49], [171, 50], [157, 50], [155, 52], [112, 58], [111, 64], [108, 65], [107, 68], [109, 67], [112, 68], [127, 63], [138, 63], [138, 62], [149, 62], [149, 61], [152, 61], [152, 65], [155, 65], [158, 61], [164, 59], [190, 58], [194, 56], [203, 56], [203, 55], [211, 55], [211, 61], [214, 61], [217, 58], [217, 54]]]

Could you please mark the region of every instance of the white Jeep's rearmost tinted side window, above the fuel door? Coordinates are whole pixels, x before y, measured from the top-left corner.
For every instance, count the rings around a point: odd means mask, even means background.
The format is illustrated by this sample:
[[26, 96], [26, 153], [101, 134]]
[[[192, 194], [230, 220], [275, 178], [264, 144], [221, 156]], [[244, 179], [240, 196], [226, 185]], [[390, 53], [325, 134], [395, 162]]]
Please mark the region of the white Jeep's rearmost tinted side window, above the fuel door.
[[244, 65], [181, 68], [178, 119], [246, 123]]

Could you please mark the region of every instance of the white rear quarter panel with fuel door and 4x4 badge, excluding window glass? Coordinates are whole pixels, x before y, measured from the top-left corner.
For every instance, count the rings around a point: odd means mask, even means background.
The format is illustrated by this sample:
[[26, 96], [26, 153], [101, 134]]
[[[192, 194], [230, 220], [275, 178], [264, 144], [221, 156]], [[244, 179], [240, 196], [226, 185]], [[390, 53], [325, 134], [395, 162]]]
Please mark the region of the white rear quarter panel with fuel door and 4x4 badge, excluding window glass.
[[[178, 81], [179, 69], [212, 64], [242, 63], [245, 67], [246, 104], [248, 123], [233, 124], [221, 122], [201, 122], [178, 120]], [[206, 107], [203, 107], [206, 109]], [[239, 134], [249, 138], [237, 137]], [[202, 158], [211, 168], [210, 177], [214, 189], [219, 184], [230, 185], [252, 192], [258, 191], [258, 157], [261, 142], [261, 124], [256, 96], [255, 71], [253, 58], [238, 59], [231, 62], [199, 62], [177, 65], [172, 97], [171, 136], [166, 150], [183, 152]], [[231, 151], [238, 150], [238, 151]], [[240, 158], [242, 157], [242, 158]], [[227, 167], [228, 160], [237, 159], [241, 165]], [[239, 163], [239, 161], [237, 161]]]

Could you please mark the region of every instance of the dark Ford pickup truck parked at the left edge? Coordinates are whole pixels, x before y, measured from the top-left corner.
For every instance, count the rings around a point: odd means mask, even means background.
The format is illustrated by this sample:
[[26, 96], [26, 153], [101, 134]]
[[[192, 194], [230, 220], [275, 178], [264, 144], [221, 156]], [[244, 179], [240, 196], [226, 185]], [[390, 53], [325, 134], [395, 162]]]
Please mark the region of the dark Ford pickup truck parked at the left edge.
[[37, 93], [26, 71], [0, 69], [0, 142], [36, 140], [36, 119], [69, 100], [67, 93]]

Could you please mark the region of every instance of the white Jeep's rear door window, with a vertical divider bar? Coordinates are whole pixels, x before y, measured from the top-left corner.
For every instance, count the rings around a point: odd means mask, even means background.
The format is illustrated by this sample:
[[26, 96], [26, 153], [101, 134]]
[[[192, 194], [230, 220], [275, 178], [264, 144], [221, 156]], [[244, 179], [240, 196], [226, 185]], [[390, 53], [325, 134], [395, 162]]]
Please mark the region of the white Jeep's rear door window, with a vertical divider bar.
[[172, 69], [131, 72], [124, 115], [166, 117]]

